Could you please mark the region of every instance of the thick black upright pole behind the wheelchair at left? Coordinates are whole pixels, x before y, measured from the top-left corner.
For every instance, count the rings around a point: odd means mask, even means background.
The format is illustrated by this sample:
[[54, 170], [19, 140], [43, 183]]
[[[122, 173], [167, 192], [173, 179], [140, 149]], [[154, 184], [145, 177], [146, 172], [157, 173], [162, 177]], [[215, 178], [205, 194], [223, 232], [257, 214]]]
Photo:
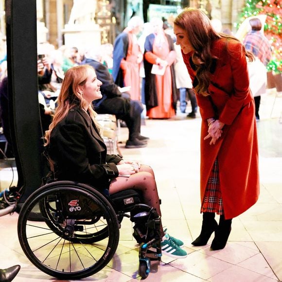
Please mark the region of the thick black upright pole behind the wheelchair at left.
[[45, 165], [37, 86], [36, 0], [6, 0], [9, 122], [19, 204], [41, 185]]

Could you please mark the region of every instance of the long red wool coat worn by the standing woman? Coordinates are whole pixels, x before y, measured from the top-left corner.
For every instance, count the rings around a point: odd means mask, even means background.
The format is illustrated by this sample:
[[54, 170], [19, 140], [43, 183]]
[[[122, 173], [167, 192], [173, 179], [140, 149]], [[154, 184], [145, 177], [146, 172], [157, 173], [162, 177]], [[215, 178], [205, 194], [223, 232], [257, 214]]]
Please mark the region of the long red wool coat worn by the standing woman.
[[[211, 48], [213, 60], [209, 96], [196, 93], [202, 117], [201, 125], [201, 202], [215, 159], [218, 159], [219, 183], [226, 219], [250, 208], [259, 197], [258, 141], [254, 100], [249, 89], [247, 60], [240, 42], [221, 38]], [[191, 56], [183, 59], [197, 83]], [[225, 123], [215, 145], [208, 135], [207, 119], [217, 117]]]

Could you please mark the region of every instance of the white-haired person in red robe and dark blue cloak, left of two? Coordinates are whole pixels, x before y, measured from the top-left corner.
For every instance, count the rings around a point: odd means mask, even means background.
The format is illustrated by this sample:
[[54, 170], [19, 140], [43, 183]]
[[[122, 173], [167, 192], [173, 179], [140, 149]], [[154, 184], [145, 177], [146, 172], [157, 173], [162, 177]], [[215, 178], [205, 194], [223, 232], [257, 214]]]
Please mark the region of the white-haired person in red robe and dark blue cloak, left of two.
[[128, 93], [132, 100], [140, 101], [140, 63], [142, 53], [139, 48], [138, 35], [143, 28], [143, 20], [132, 17], [127, 27], [117, 36], [113, 50], [112, 75], [120, 87], [130, 87]]

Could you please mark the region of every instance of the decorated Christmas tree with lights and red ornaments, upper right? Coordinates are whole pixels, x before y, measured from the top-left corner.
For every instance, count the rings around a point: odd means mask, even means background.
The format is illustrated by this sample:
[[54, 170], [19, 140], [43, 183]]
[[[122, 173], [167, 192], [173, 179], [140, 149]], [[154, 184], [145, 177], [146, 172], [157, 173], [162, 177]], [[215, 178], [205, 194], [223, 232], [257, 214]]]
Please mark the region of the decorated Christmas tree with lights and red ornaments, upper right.
[[242, 14], [236, 26], [246, 18], [266, 15], [264, 35], [272, 46], [272, 60], [267, 65], [267, 71], [282, 72], [282, 9], [281, 0], [246, 0]]

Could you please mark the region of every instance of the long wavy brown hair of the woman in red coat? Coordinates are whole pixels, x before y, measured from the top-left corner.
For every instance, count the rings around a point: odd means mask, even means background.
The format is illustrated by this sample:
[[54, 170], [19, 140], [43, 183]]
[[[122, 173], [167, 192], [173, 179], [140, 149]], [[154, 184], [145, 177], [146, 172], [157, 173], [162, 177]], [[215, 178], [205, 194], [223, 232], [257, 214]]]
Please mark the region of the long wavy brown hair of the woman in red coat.
[[[176, 17], [174, 24], [187, 32], [188, 39], [194, 50], [192, 61], [196, 66], [196, 76], [199, 82], [195, 90], [207, 96], [211, 82], [212, 59], [216, 58], [211, 54], [212, 42], [219, 38], [239, 40], [230, 35], [217, 33], [213, 29], [210, 19], [203, 12], [195, 8], [185, 8]], [[252, 61], [253, 55], [247, 52], [244, 46], [243, 50], [249, 60]]]

